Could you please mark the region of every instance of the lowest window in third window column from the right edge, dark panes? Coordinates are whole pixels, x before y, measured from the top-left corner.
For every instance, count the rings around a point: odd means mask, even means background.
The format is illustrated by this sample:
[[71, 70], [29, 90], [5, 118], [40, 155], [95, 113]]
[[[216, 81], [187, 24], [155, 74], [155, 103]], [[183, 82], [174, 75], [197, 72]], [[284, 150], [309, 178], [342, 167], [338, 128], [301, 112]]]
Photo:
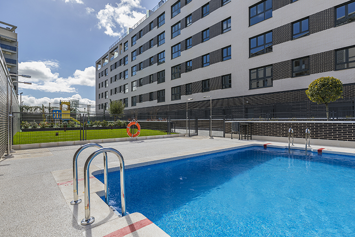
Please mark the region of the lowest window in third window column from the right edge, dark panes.
[[250, 89], [272, 86], [272, 66], [249, 70]]

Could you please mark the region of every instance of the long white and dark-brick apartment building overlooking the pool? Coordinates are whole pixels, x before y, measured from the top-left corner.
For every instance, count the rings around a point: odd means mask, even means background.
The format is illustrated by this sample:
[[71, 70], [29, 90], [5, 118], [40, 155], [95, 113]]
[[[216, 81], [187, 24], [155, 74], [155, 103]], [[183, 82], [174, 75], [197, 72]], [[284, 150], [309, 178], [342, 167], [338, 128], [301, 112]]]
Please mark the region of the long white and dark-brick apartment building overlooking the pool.
[[122, 100], [127, 113], [183, 115], [211, 97], [228, 114], [308, 100], [322, 76], [354, 97], [354, 21], [355, 0], [161, 1], [96, 61], [97, 112]]

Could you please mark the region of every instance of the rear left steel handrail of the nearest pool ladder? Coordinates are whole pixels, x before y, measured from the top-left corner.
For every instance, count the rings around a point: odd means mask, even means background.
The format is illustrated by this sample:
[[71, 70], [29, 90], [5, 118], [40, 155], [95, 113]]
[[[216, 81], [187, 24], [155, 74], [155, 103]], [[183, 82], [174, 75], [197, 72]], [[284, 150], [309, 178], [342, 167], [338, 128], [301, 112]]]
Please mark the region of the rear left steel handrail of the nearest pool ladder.
[[[84, 146], [80, 147], [74, 154], [73, 157], [73, 191], [74, 191], [74, 200], [70, 202], [71, 205], [79, 204], [81, 203], [81, 199], [79, 199], [78, 196], [78, 157], [79, 154], [86, 148], [88, 147], [97, 147], [97, 148], [103, 148], [101, 145], [97, 143], [88, 143], [85, 144]], [[104, 153], [104, 177], [107, 177], [105, 174], [107, 173], [107, 154]], [[105, 201], [107, 205], [109, 204], [108, 200], [108, 185], [107, 185], [107, 180], [105, 179]]]

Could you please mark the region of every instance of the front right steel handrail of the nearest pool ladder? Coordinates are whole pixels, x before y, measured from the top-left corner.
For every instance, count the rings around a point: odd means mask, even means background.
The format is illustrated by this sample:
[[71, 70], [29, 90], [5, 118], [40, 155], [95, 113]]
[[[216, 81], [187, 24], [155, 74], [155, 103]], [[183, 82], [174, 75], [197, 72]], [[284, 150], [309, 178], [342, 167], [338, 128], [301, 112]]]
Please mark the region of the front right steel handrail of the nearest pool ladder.
[[[126, 216], [126, 188], [125, 188], [125, 162], [123, 160], [123, 156], [119, 151], [113, 148], [101, 148], [94, 153], [92, 153], [85, 162], [84, 166], [84, 204], [85, 204], [85, 218], [81, 221], [81, 225], [89, 225], [95, 221], [94, 217], [90, 217], [90, 164], [91, 161], [101, 153], [111, 152], [114, 153], [118, 159], [120, 160], [120, 181], [121, 181], [121, 204], [122, 204], [122, 217]], [[107, 159], [106, 159], [107, 160]], [[106, 166], [107, 167], [107, 166]], [[106, 173], [107, 180], [107, 173]]]

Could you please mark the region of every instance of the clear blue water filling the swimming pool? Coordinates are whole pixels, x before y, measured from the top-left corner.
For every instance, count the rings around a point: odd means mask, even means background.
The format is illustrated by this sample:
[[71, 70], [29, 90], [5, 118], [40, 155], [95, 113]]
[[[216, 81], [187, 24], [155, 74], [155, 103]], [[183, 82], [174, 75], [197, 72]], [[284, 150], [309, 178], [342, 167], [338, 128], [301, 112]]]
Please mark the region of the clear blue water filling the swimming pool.
[[252, 147], [128, 169], [126, 206], [172, 237], [351, 237], [355, 157]]

